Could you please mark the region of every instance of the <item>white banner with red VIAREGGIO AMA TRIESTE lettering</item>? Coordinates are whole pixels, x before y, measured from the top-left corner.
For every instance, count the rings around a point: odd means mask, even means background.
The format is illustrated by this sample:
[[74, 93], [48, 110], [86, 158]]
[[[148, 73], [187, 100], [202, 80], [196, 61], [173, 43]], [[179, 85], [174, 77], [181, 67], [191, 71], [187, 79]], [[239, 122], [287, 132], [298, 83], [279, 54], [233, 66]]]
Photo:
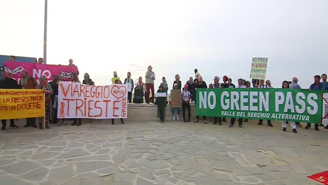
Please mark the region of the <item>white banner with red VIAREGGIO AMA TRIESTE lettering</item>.
[[59, 82], [57, 118], [127, 118], [128, 86]]

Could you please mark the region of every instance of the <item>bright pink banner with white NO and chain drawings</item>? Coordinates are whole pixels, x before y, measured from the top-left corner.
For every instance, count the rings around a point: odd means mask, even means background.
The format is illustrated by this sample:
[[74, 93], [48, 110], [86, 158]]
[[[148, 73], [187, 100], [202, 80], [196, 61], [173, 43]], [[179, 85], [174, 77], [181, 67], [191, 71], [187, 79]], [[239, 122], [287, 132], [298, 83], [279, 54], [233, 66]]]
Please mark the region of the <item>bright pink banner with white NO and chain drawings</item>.
[[[19, 82], [20, 72], [23, 69], [29, 72], [29, 75], [35, 78], [38, 82], [38, 79], [45, 75], [49, 81], [53, 80], [54, 75], [60, 75], [65, 77], [66, 81], [70, 81], [71, 73], [77, 72], [76, 66], [65, 66], [65, 65], [45, 65], [45, 64], [36, 64], [36, 63], [26, 63], [26, 62], [5, 62], [5, 71], [11, 70], [13, 78]], [[5, 73], [6, 77], [6, 73]]]

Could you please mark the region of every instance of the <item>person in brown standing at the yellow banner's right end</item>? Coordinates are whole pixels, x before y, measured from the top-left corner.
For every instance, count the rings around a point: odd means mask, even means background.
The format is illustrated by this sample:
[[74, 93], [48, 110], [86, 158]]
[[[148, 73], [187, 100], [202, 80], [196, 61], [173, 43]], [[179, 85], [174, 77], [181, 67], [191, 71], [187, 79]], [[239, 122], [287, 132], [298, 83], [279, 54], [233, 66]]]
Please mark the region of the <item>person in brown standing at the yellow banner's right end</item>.
[[53, 94], [53, 90], [51, 85], [48, 84], [48, 79], [45, 75], [39, 78], [40, 83], [36, 86], [36, 89], [43, 89], [45, 92], [45, 117], [39, 118], [39, 128], [43, 129], [42, 122], [45, 121], [46, 128], [49, 129], [49, 118], [51, 118], [52, 114], [52, 104], [51, 104], [51, 95]]

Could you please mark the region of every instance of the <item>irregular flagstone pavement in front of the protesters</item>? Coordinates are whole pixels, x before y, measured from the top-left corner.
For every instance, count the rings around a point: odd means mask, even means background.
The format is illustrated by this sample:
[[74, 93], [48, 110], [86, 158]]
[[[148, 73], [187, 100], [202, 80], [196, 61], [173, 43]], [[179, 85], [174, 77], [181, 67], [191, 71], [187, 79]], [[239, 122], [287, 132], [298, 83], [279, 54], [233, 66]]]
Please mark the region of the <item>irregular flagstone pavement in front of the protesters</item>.
[[318, 184], [306, 176], [327, 170], [328, 132], [284, 133], [275, 123], [7, 128], [0, 133], [0, 184]]

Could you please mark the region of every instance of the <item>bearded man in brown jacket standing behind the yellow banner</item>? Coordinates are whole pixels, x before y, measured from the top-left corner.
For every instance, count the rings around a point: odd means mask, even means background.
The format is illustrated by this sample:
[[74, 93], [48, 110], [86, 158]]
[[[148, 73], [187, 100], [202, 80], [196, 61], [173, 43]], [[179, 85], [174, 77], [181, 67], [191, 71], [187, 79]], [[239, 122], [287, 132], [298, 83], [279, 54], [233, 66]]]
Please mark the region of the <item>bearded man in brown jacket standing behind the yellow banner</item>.
[[[25, 69], [20, 72], [19, 86], [23, 89], [35, 89], [37, 86], [37, 82], [35, 78], [29, 76], [29, 72]], [[36, 118], [26, 118], [26, 124], [24, 127], [32, 126], [33, 128], [37, 128], [36, 126]]]

